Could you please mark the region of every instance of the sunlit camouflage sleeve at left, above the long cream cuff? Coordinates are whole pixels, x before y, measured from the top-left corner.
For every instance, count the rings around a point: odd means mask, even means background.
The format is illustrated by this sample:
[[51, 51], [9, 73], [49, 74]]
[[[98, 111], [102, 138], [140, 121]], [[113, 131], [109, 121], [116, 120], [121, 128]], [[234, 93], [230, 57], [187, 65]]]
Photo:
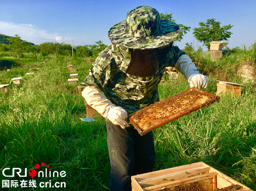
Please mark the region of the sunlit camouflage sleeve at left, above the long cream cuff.
[[84, 82], [79, 84], [81, 91], [87, 86], [94, 86], [95, 88], [103, 91], [109, 80], [108, 69], [110, 69], [111, 63], [110, 51], [111, 45], [98, 55], [91, 69], [89, 70], [89, 75], [85, 78]]

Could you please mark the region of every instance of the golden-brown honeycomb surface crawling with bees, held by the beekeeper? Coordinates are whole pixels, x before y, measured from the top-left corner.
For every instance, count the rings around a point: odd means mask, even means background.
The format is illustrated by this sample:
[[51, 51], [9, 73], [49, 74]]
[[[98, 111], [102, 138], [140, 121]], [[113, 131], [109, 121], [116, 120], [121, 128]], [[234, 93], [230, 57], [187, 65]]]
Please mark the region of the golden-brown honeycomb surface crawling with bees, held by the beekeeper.
[[160, 102], [151, 104], [147, 108], [143, 108], [128, 117], [129, 120], [135, 123], [141, 130], [146, 130], [151, 127], [156, 127], [165, 121], [170, 122], [172, 119], [175, 120], [179, 118], [179, 115], [198, 106], [197, 109], [199, 109], [200, 106], [205, 107], [219, 100], [219, 96], [209, 94], [193, 87]]

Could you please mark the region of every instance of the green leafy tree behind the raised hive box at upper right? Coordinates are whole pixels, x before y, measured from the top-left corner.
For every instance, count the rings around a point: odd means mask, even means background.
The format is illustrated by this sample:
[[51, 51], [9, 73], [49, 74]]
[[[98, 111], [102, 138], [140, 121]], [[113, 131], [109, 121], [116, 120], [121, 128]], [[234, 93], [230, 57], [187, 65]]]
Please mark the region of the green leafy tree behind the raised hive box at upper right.
[[216, 19], [207, 19], [206, 23], [199, 22], [198, 28], [194, 28], [194, 37], [199, 42], [202, 42], [204, 46], [210, 50], [210, 42], [211, 41], [222, 41], [222, 40], [228, 40], [230, 38], [230, 35], [233, 34], [232, 32], [228, 32], [229, 29], [232, 28], [232, 26], [225, 25], [221, 27], [220, 21], [215, 21]]

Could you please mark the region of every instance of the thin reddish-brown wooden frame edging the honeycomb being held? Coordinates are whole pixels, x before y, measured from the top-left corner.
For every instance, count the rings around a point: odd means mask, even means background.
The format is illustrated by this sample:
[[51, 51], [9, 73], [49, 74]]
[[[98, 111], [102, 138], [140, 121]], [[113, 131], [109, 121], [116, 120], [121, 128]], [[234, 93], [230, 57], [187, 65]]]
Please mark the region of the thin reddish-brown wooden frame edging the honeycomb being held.
[[[197, 89], [197, 88], [196, 88], [196, 89]], [[168, 123], [171, 122], [171, 121], [175, 121], [176, 119], [178, 119], [178, 118], [180, 118], [180, 117], [182, 117], [182, 116], [184, 116], [184, 115], [188, 115], [188, 114], [190, 114], [190, 113], [193, 112], [193, 111], [196, 111], [196, 110], [198, 110], [198, 109], [200, 109], [200, 108], [206, 107], [206, 106], [208, 106], [209, 104], [214, 103], [214, 102], [216, 102], [216, 101], [219, 100], [219, 98], [217, 99], [218, 96], [215, 96], [215, 95], [213, 95], [213, 94], [210, 94], [210, 93], [208, 93], [208, 92], [206, 92], [206, 91], [203, 91], [203, 90], [201, 90], [201, 89], [197, 89], [197, 90], [200, 90], [200, 91], [202, 91], [204, 94], [207, 94], [207, 95], [209, 95], [209, 96], [212, 96], [214, 99], [210, 100], [209, 102], [205, 102], [205, 103], [203, 103], [202, 105], [199, 105], [199, 106], [197, 106], [197, 107], [195, 107], [195, 108], [192, 108], [192, 109], [190, 109], [190, 110], [188, 110], [188, 111], [185, 111], [184, 113], [182, 113], [182, 114], [180, 114], [180, 115], [176, 115], [176, 116], [174, 116], [173, 118], [171, 118], [171, 119], [169, 119], [169, 120], [167, 120], [167, 121], [163, 121], [163, 122], [161, 122], [161, 123], [159, 123], [159, 124], [157, 124], [157, 125], [155, 125], [155, 126], [153, 126], [153, 127], [150, 127], [150, 128], [148, 128], [148, 129], [146, 129], [146, 130], [141, 130], [141, 128], [140, 128], [140, 127], [136, 124], [136, 122], [133, 121], [133, 119], [131, 118], [133, 115], [135, 115], [135, 114], [136, 114], [137, 112], [139, 112], [140, 110], [139, 110], [139, 111], [136, 111], [136, 112], [133, 113], [133, 114], [128, 115], [129, 121], [132, 123], [132, 125], [135, 127], [135, 129], [138, 131], [138, 133], [139, 133], [141, 136], [143, 136], [144, 134], [147, 134], [148, 132], [150, 132], [150, 131], [152, 131], [152, 130], [158, 128], [158, 127], [161, 127], [161, 126], [163, 126], [163, 125], [166, 125], [166, 124], [168, 124]], [[164, 100], [162, 100], [162, 101], [160, 101], [160, 102], [163, 102], [163, 101], [164, 101]]]

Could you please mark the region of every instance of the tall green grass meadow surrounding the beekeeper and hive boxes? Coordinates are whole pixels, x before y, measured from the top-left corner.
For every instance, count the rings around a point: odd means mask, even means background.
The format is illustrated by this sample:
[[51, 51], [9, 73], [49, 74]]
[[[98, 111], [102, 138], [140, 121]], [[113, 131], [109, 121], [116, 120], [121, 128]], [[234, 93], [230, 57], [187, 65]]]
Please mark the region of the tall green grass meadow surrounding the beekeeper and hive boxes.
[[[187, 51], [209, 85], [203, 89], [216, 93], [216, 80], [241, 83], [245, 86], [240, 97], [221, 96], [220, 102], [201, 108], [153, 131], [155, 169], [203, 161], [256, 191], [256, 85], [243, 82], [236, 69], [243, 63], [255, 64], [256, 45], [237, 48], [229, 56], [213, 62], [202, 51]], [[45, 59], [48, 62], [44, 62]], [[67, 62], [77, 69], [79, 82], [88, 75], [91, 64], [80, 57], [48, 55], [21, 59], [0, 53], [0, 64], [11, 64], [11, 71], [0, 71], [0, 84], [10, 83], [8, 93], [0, 91], [0, 190], [32, 191], [32, 187], [2, 188], [2, 180], [29, 180], [4, 177], [5, 168], [21, 168], [21, 174], [35, 169], [42, 162], [51, 171], [65, 171], [65, 177], [35, 177], [36, 191], [40, 182], [65, 182], [66, 188], [53, 191], [107, 191], [110, 162], [107, 130], [101, 116], [84, 122], [84, 98], [78, 84], [67, 83]], [[41, 66], [32, 75], [28, 69]], [[23, 77], [21, 85], [11, 83], [13, 77]], [[160, 100], [188, 89], [184, 76], [177, 79], [164, 76], [159, 85]], [[46, 169], [41, 166], [40, 169]], [[8, 171], [9, 175], [12, 174]], [[6, 173], [7, 174], [7, 173]], [[52, 184], [53, 185], [53, 184]]]

